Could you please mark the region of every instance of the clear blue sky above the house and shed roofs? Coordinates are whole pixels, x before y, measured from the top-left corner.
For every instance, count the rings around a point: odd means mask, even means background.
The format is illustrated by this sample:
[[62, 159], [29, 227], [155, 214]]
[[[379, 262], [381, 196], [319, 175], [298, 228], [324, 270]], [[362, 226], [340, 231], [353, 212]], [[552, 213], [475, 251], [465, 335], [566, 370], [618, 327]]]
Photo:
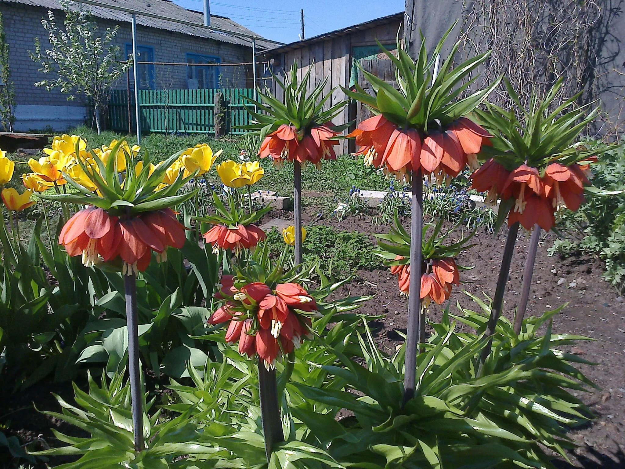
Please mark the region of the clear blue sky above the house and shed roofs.
[[[202, 11], [202, 0], [174, 0]], [[246, 28], [282, 43], [297, 41], [299, 10], [304, 9], [306, 38], [380, 18], [404, 9], [404, 0], [215, 0], [211, 14], [227, 16]]]

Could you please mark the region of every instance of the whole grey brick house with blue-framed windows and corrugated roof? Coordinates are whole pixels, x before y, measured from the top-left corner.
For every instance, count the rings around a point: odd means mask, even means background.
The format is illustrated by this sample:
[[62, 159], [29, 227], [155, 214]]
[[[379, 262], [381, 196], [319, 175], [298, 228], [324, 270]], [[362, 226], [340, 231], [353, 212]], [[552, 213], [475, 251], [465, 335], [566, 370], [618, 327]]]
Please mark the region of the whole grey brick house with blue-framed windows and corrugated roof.
[[[134, 11], [148, 11], [166, 18], [183, 19], [203, 24], [202, 13], [191, 11], [169, 0], [101, 0], [101, 3], [122, 6]], [[122, 58], [132, 51], [131, 14], [111, 9], [84, 6], [94, 16], [98, 27], [104, 31], [119, 25], [116, 43]], [[9, 46], [9, 66], [15, 88], [16, 131], [44, 129], [48, 126], [62, 131], [82, 124], [88, 116], [86, 103], [80, 99], [68, 101], [58, 90], [36, 88], [34, 83], [45, 75], [37, 69], [29, 51], [34, 50], [35, 38], [42, 49], [49, 46], [46, 30], [41, 24], [47, 12], [54, 12], [57, 23], [63, 19], [63, 9], [56, 0], [0, 0], [0, 13]], [[256, 36], [259, 50], [276, 46], [276, 43], [257, 36], [229, 18], [211, 15], [215, 28]], [[154, 19], [137, 14], [137, 41], [139, 61], [166, 63], [249, 63], [252, 60], [249, 39], [227, 33], [194, 28], [183, 24]], [[244, 88], [252, 86], [251, 66], [160, 66], [139, 65], [139, 88], [194, 89], [194, 88]], [[130, 74], [134, 88], [133, 74]], [[126, 78], [116, 88], [126, 89]]]

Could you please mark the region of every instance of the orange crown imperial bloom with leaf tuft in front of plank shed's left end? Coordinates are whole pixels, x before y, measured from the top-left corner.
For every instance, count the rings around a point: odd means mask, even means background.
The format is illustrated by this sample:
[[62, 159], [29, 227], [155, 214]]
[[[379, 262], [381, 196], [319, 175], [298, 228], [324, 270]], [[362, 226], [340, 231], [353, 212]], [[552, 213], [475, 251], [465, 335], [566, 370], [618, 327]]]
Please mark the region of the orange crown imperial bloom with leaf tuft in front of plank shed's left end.
[[334, 126], [330, 122], [342, 113], [347, 101], [324, 109], [332, 91], [319, 99], [327, 84], [327, 77], [307, 93], [310, 72], [311, 68], [300, 83], [297, 79], [297, 63], [292, 64], [290, 73], [281, 83], [286, 104], [268, 93], [259, 93], [262, 102], [246, 98], [259, 108], [258, 112], [248, 110], [254, 123], [246, 128], [259, 131], [262, 144], [258, 154], [261, 158], [271, 157], [276, 166], [284, 161], [298, 161], [321, 168], [322, 159], [336, 159], [334, 146], [339, 144], [336, 137], [349, 126], [349, 123]]

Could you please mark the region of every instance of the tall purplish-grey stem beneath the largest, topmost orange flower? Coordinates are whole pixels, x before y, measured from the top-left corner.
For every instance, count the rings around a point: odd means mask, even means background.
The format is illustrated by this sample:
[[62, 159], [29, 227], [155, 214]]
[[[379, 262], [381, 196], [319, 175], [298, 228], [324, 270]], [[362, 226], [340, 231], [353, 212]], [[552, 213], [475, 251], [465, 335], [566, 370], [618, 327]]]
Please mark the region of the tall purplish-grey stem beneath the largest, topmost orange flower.
[[[410, 291], [404, 374], [404, 404], [414, 397], [417, 371], [417, 344], [424, 340], [421, 321], [421, 238], [423, 233], [423, 175], [412, 173], [412, 221], [410, 228]], [[296, 231], [297, 233], [297, 231]]]

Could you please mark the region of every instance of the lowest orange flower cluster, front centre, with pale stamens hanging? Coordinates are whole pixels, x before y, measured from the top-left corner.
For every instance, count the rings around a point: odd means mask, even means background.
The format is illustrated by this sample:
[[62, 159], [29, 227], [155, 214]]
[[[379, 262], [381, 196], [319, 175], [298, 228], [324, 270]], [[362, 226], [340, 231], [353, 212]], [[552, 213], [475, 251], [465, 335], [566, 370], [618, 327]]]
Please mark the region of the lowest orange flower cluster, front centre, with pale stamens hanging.
[[267, 370], [281, 354], [291, 353], [311, 332], [317, 311], [314, 298], [297, 283], [251, 282], [236, 288], [234, 277], [223, 276], [217, 294], [226, 300], [208, 319], [211, 325], [228, 323], [226, 341], [239, 343], [239, 353], [259, 356]]

